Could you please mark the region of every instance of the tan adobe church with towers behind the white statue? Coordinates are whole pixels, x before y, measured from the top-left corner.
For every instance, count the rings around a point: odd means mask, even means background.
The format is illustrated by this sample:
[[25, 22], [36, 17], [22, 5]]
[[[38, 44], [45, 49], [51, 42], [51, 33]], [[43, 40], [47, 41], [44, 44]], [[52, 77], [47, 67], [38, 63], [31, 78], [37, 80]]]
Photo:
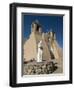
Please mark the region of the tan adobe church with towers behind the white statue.
[[62, 48], [58, 45], [55, 32], [42, 31], [42, 26], [38, 21], [31, 24], [31, 34], [23, 45], [24, 61], [38, 61], [38, 44], [42, 43], [42, 60], [56, 60], [58, 63], [63, 59]]

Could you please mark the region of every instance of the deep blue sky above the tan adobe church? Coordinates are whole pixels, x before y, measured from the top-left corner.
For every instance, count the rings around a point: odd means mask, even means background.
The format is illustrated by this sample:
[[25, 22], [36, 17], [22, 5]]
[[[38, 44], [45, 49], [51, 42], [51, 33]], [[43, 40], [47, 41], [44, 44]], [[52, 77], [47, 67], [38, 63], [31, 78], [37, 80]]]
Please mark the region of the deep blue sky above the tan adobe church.
[[48, 32], [52, 29], [56, 33], [59, 45], [63, 47], [63, 16], [23, 14], [22, 17], [24, 38], [28, 38], [31, 33], [31, 23], [38, 20], [42, 25], [42, 31]]

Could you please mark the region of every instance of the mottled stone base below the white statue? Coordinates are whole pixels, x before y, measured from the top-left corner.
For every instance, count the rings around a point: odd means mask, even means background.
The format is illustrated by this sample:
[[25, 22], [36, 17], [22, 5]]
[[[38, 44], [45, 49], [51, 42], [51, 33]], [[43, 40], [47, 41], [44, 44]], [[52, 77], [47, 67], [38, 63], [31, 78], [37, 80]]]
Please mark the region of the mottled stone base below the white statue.
[[28, 62], [23, 64], [23, 75], [50, 74], [57, 70], [58, 66], [54, 62]]

